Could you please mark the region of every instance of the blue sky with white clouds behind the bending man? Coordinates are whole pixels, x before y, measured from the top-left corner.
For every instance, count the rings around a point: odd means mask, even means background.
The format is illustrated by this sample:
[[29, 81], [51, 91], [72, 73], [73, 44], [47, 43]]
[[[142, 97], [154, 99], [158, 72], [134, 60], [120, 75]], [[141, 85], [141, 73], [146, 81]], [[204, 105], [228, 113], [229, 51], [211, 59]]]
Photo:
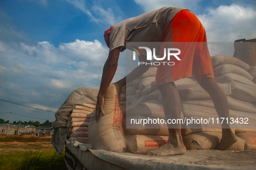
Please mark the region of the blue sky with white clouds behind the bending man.
[[[99, 87], [104, 30], [163, 6], [193, 12], [208, 42], [256, 38], [255, 0], [1, 0], [0, 99], [55, 112], [72, 90]], [[125, 76], [125, 60], [123, 52], [113, 81]], [[19, 114], [11, 122], [55, 120], [52, 112], [0, 101], [0, 118], [10, 111]]]

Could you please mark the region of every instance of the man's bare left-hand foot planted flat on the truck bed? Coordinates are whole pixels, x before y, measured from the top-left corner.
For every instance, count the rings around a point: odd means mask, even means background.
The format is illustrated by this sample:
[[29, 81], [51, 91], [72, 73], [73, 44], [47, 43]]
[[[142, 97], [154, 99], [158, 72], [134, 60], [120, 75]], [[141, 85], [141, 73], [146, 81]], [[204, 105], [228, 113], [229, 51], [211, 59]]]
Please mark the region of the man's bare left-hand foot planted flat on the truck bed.
[[160, 146], [159, 148], [150, 151], [147, 155], [150, 156], [170, 156], [170, 155], [181, 155], [186, 152], [186, 147], [183, 142], [174, 147], [169, 141]]

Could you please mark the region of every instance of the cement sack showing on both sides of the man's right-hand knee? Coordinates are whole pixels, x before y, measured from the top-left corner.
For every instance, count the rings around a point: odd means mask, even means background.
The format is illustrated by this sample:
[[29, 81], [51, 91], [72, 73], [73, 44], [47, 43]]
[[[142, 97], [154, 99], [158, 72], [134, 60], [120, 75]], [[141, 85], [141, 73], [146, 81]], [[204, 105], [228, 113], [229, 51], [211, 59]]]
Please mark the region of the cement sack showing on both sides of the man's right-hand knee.
[[[231, 94], [230, 84], [218, 83], [226, 96]], [[185, 99], [211, 99], [210, 95], [199, 84], [177, 85], [178, 93]]]

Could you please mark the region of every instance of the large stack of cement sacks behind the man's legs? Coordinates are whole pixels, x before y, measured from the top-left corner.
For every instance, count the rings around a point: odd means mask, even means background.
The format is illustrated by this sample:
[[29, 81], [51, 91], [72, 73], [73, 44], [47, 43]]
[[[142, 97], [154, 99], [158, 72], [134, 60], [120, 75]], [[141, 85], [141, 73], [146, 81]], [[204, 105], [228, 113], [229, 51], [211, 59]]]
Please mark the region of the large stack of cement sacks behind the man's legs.
[[[212, 57], [214, 76], [217, 83], [227, 96], [230, 117], [249, 118], [251, 127], [234, 124], [239, 140], [230, 150], [256, 150], [256, 84], [253, 76], [255, 67], [251, 67], [230, 56], [217, 55]], [[156, 68], [151, 68], [155, 69]], [[249, 70], [250, 69], [250, 70]], [[154, 70], [154, 71], [155, 71]], [[249, 70], [250, 73], [247, 71]], [[150, 85], [149, 85], [150, 84]], [[181, 96], [181, 119], [207, 119], [209, 123], [181, 125], [181, 135], [187, 149], [214, 149], [219, 143], [222, 133], [220, 119], [217, 124], [217, 112], [209, 94], [202, 89], [196, 80], [185, 78], [175, 81]], [[132, 153], [145, 154], [168, 140], [168, 129], [165, 122], [161, 124], [131, 124], [135, 119], [165, 119], [162, 109], [162, 96], [156, 88], [154, 76], [140, 77], [133, 83], [126, 84], [126, 116], [125, 129], [126, 148]], [[214, 122], [212, 122], [214, 120]], [[254, 140], [254, 141], [253, 141]], [[249, 147], [248, 147], [249, 146]]]

